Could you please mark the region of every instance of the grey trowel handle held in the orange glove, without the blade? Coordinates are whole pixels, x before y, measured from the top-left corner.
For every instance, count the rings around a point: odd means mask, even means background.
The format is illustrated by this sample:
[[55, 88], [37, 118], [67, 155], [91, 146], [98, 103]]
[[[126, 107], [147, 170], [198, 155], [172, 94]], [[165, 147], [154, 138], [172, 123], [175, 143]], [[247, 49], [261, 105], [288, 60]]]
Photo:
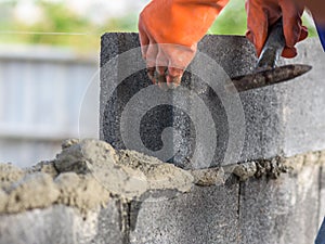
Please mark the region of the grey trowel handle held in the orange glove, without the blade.
[[270, 29], [268, 40], [257, 63], [257, 69], [274, 68], [285, 46], [286, 40], [281, 17]]

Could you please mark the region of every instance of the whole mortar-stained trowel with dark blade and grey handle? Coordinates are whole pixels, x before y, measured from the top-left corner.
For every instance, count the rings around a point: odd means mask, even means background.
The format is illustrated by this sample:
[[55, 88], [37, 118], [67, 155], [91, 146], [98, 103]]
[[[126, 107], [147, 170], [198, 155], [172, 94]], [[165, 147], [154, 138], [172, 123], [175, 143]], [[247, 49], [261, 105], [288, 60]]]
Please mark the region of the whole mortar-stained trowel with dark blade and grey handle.
[[312, 68], [312, 66], [304, 64], [289, 64], [277, 67], [276, 63], [285, 43], [283, 21], [280, 18], [270, 29], [255, 72], [244, 76], [232, 77], [232, 85], [237, 92], [284, 82], [301, 76]]

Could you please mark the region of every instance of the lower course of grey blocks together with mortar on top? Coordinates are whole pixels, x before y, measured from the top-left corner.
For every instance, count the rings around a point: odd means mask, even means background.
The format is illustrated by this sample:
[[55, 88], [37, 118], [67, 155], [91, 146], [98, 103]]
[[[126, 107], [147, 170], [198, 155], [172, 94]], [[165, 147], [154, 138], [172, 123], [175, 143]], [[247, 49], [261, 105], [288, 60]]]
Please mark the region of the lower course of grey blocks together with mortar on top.
[[[64, 143], [52, 162], [0, 165], [0, 243], [312, 243], [324, 155], [185, 171], [103, 141]], [[129, 195], [126, 181], [113, 193], [116, 178], [102, 182], [94, 164], [130, 178], [140, 171], [146, 188]]]

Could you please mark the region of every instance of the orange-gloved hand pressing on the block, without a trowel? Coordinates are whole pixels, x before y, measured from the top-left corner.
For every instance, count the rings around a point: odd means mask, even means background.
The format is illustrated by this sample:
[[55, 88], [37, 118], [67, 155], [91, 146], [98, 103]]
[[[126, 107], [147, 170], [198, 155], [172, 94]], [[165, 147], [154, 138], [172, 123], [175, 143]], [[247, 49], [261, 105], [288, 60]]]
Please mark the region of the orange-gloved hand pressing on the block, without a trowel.
[[173, 88], [193, 60], [197, 42], [227, 0], [153, 0], [140, 14], [139, 35], [147, 74]]

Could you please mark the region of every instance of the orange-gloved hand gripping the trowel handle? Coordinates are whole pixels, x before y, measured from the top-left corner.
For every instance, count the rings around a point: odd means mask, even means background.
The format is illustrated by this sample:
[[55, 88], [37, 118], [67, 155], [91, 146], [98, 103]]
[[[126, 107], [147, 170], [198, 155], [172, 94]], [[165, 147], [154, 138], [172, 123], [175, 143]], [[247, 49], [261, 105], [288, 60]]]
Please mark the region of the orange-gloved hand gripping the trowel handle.
[[283, 17], [286, 47], [282, 55], [294, 57], [298, 41], [307, 38], [308, 29], [302, 26], [301, 15], [304, 7], [294, 0], [246, 0], [247, 38], [255, 44], [258, 56], [268, 38], [269, 27]]

